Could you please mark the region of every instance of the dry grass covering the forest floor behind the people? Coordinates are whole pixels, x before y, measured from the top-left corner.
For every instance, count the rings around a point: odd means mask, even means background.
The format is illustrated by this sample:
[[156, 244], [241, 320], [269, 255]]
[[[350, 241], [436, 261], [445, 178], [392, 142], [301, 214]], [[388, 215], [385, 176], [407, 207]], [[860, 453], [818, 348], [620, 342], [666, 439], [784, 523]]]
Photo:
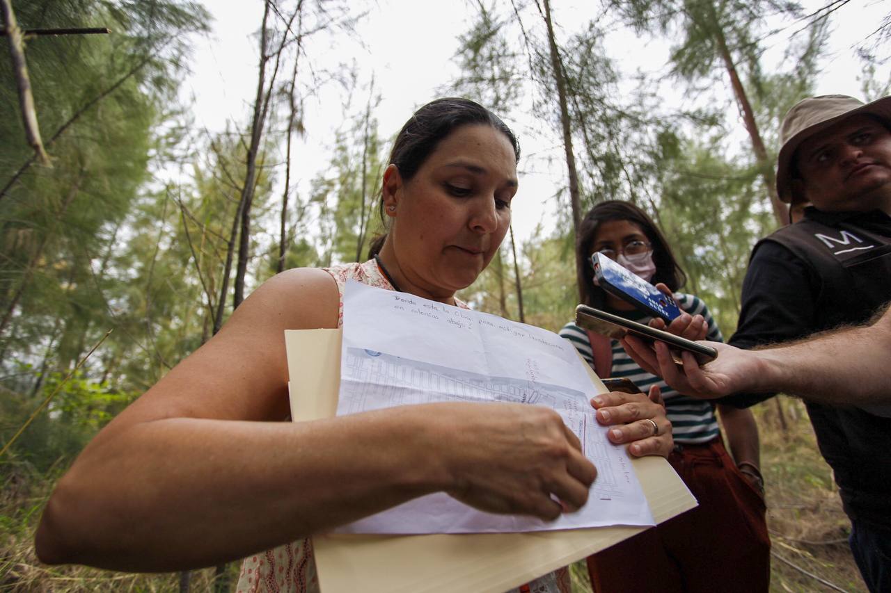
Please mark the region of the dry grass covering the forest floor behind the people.
[[[775, 402], [756, 406], [762, 468], [767, 482], [768, 527], [773, 542], [772, 591], [830, 591], [813, 576], [845, 591], [866, 591], [847, 547], [850, 529], [817, 451], [801, 402], [781, 399], [785, 430]], [[4, 465], [0, 491], [0, 591], [176, 591], [176, 574], [127, 574], [83, 566], [47, 567], [34, 555], [33, 531], [53, 479], [28, 467]], [[53, 475], [58, 475], [53, 473]], [[808, 576], [777, 558], [813, 574]], [[230, 565], [229, 581], [238, 567]], [[584, 562], [571, 570], [573, 590], [591, 591]], [[213, 589], [212, 569], [192, 573], [192, 591]]]

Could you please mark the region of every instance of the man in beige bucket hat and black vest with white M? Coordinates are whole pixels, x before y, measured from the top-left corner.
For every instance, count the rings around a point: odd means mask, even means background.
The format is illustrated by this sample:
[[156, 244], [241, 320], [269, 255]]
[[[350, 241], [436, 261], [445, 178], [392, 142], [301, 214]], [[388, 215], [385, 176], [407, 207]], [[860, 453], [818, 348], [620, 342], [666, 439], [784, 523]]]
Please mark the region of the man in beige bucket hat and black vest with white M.
[[[753, 249], [730, 340], [741, 348], [860, 324], [891, 300], [891, 97], [805, 99], [783, 120], [781, 142], [780, 198], [811, 206]], [[726, 402], [745, 407], [770, 396]], [[806, 406], [851, 518], [863, 579], [872, 591], [891, 590], [891, 415], [887, 407]]]

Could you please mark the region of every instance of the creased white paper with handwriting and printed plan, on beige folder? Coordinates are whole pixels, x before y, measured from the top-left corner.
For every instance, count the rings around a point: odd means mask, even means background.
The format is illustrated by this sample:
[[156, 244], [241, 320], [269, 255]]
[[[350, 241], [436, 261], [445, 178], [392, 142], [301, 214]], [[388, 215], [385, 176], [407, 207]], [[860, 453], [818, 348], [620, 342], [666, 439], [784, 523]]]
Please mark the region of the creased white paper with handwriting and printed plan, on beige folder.
[[625, 448], [594, 417], [575, 348], [546, 329], [347, 281], [338, 415], [429, 402], [517, 402], [560, 413], [597, 467], [587, 504], [544, 522], [484, 513], [439, 492], [341, 527], [345, 533], [534, 532], [652, 525]]

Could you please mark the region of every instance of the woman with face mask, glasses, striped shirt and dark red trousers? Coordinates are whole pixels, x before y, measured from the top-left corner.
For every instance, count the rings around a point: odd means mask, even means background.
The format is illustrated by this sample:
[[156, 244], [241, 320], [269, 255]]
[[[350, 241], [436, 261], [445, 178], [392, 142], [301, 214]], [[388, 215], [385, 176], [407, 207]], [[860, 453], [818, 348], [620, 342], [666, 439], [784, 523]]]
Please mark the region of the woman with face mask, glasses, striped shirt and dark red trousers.
[[[673, 329], [687, 325], [684, 337], [721, 341], [721, 331], [696, 296], [677, 292], [685, 275], [662, 233], [639, 207], [606, 201], [593, 207], [579, 226], [576, 248], [584, 256], [577, 269], [585, 305], [634, 321], [650, 318], [594, 283], [592, 256], [600, 252], [674, 293], [682, 309]], [[670, 294], [670, 293], [669, 293]], [[689, 324], [689, 325], [688, 325]], [[733, 458], [724, 450], [714, 406], [679, 394], [638, 366], [617, 340], [568, 323], [560, 330], [601, 377], [630, 378], [665, 398], [674, 431], [668, 457], [699, 500], [695, 508], [655, 529], [588, 558], [595, 591], [766, 591], [770, 579], [770, 541], [764, 522], [758, 433], [748, 410], [718, 406]], [[741, 413], [740, 413], [741, 412]], [[634, 571], [628, 566], [634, 565]]]

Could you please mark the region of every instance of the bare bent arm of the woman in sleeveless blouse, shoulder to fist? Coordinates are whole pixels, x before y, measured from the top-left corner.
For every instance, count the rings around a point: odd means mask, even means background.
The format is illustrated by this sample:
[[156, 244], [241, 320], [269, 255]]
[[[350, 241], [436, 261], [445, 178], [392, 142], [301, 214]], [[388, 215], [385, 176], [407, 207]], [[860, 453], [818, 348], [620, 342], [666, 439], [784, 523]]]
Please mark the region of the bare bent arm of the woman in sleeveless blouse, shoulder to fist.
[[[284, 329], [334, 327], [325, 272], [285, 272], [96, 436], [37, 530], [49, 563], [213, 565], [432, 491], [496, 512], [577, 508], [595, 472], [552, 410], [430, 404], [307, 423], [287, 414]], [[524, 430], [520, 428], [525, 427]]]

